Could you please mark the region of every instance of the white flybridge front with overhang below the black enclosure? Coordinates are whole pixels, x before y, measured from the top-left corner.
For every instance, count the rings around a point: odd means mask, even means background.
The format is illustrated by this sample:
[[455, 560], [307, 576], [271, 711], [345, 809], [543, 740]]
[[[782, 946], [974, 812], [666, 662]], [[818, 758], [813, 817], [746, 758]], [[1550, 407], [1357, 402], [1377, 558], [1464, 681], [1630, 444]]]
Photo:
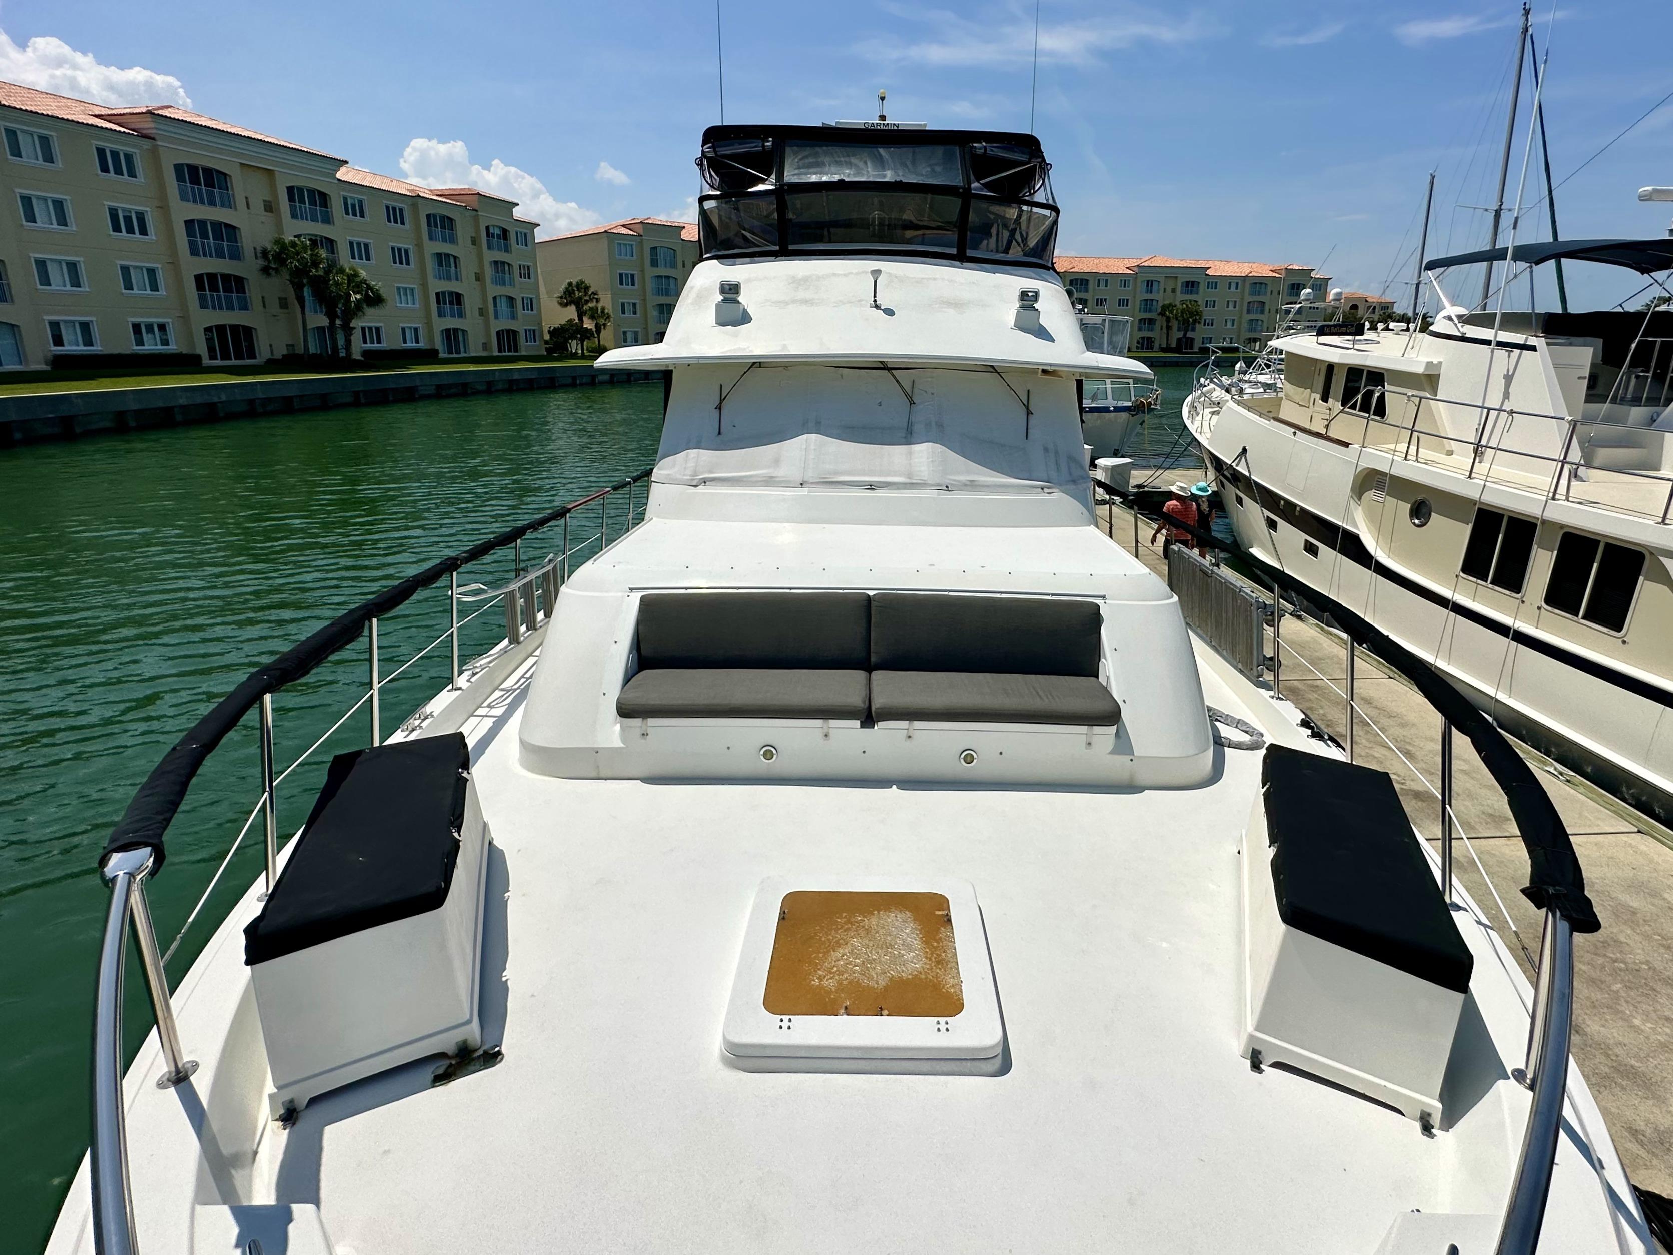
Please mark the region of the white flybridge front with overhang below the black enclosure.
[[[875, 281], [872, 271], [878, 271]], [[721, 281], [739, 284], [723, 321]], [[1017, 323], [1022, 289], [1037, 325]], [[873, 301], [875, 291], [875, 301]], [[713, 363], [999, 366], [1082, 378], [1153, 378], [1133, 358], [1089, 353], [1069, 296], [1049, 269], [934, 258], [843, 256], [703, 261], [659, 345], [616, 348], [601, 370]]]

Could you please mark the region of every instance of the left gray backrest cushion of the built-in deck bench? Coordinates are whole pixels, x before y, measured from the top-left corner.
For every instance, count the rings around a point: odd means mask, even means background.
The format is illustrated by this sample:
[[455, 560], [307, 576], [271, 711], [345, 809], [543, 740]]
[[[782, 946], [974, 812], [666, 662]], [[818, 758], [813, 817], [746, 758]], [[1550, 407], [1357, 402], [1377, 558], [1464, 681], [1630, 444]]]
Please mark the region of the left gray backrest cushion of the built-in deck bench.
[[865, 671], [865, 592], [647, 592], [639, 668], [843, 668]]

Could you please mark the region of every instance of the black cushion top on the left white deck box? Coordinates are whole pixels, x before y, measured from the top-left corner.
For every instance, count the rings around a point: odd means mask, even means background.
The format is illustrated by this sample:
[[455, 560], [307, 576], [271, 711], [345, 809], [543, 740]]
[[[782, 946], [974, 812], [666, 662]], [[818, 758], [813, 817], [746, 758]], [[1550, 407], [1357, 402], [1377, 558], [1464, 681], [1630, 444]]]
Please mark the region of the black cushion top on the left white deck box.
[[244, 962], [268, 962], [447, 902], [468, 770], [460, 733], [333, 758], [268, 905], [244, 929]]

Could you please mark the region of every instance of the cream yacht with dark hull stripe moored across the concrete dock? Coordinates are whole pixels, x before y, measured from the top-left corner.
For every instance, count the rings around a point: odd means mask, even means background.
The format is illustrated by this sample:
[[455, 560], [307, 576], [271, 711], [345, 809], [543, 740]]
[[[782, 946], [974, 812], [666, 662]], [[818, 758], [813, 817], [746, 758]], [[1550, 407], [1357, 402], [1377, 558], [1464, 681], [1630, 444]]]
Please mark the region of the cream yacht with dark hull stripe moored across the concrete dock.
[[[1673, 239], [1484, 249], [1636, 274]], [[1673, 313], [1323, 326], [1210, 373], [1184, 420], [1238, 540], [1434, 663], [1529, 745], [1673, 823]]]

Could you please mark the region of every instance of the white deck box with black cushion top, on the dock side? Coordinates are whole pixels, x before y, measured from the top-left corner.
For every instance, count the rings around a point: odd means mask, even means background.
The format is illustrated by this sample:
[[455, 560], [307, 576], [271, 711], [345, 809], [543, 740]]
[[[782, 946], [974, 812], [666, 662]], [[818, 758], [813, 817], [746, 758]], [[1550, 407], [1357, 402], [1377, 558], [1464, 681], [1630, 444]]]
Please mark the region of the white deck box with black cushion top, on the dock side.
[[1243, 915], [1243, 1056], [1437, 1124], [1474, 959], [1389, 776], [1268, 748]]

